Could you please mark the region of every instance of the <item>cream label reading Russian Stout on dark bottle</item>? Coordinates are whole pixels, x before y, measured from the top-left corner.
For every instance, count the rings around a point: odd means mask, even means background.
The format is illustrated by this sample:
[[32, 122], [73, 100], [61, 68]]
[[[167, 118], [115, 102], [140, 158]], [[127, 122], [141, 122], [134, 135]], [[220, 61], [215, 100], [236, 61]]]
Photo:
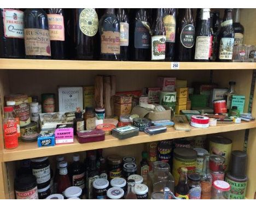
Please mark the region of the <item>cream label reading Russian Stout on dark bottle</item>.
[[25, 50], [27, 56], [51, 56], [48, 29], [24, 29]]

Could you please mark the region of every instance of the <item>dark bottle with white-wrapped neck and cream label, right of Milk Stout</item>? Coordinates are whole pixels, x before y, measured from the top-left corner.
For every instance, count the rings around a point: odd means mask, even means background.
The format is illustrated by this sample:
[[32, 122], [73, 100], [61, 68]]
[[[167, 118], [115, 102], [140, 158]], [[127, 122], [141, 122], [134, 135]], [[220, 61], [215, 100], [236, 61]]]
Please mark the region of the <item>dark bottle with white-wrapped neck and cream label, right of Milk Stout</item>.
[[201, 19], [196, 25], [195, 62], [208, 62], [211, 57], [210, 9], [201, 10]]

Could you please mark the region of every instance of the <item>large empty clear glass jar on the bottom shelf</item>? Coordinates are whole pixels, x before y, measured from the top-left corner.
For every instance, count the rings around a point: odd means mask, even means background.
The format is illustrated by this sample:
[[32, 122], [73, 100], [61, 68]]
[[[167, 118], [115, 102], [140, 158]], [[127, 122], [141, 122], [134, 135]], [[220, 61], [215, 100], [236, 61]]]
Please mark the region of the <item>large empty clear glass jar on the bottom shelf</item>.
[[154, 162], [153, 169], [148, 173], [147, 185], [149, 198], [153, 192], [164, 192], [165, 187], [174, 192], [174, 178], [170, 173], [170, 165], [162, 161]]

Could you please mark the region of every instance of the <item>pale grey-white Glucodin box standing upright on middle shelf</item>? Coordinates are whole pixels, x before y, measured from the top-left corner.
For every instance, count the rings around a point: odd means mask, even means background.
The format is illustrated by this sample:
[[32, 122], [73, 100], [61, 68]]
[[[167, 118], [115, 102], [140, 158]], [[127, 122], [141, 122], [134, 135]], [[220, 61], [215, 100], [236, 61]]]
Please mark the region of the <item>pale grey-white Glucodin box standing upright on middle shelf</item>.
[[83, 107], [82, 87], [59, 87], [59, 111], [71, 112]]

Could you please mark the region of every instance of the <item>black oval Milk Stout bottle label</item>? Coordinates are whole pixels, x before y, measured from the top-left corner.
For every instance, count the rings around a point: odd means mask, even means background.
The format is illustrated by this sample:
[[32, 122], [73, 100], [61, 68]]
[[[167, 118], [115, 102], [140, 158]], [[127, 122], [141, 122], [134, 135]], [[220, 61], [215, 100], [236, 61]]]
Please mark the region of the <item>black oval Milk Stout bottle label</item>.
[[194, 46], [195, 42], [195, 27], [193, 25], [186, 25], [181, 32], [181, 43], [186, 48]]

